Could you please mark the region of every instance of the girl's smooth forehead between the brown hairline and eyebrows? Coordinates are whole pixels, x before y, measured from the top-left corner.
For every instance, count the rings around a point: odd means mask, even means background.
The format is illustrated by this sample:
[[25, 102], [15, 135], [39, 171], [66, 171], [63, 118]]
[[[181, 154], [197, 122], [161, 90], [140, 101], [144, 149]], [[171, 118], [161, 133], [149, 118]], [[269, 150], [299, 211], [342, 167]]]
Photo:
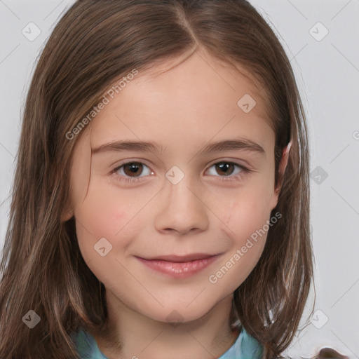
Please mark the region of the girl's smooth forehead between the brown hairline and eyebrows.
[[167, 147], [190, 144], [192, 137], [208, 142], [238, 133], [264, 142], [271, 135], [264, 90], [245, 69], [206, 53], [142, 70], [109, 100], [91, 123], [93, 147], [118, 137], [158, 140]]

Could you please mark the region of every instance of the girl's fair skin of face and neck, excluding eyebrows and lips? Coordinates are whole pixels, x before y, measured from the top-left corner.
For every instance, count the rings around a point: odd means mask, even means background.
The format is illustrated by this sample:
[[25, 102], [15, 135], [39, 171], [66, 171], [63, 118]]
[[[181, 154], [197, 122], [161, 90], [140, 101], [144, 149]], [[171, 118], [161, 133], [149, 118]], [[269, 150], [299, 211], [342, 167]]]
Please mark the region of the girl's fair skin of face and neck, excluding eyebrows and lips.
[[[257, 264], [266, 235], [217, 283], [208, 278], [262, 229], [278, 201], [275, 134], [266, 114], [266, 94], [241, 67], [238, 72], [204, 50], [182, 60], [135, 76], [97, 114], [74, 151], [74, 209], [65, 219], [75, 216], [83, 258], [107, 290], [109, 323], [123, 344], [118, 351], [96, 337], [109, 358], [223, 355], [238, 337], [229, 326], [233, 291]], [[237, 105], [245, 94], [257, 102], [248, 114]], [[233, 139], [251, 140], [264, 153], [198, 154], [208, 143]], [[91, 150], [116, 140], [154, 141], [165, 151], [91, 155]], [[144, 164], [132, 175], [142, 180], [132, 184], [121, 182], [131, 178], [128, 166], [112, 171], [130, 161]], [[229, 176], [215, 165], [221, 161], [235, 164]], [[177, 184], [165, 177], [174, 165], [184, 173]], [[94, 250], [100, 238], [112, 245], [104, 257]], [[134, 257], [194, 252], [221, 255], [189, 278], [165, 276]], [[179, 313], [179, 325], [168, 323], [172, 311]]]

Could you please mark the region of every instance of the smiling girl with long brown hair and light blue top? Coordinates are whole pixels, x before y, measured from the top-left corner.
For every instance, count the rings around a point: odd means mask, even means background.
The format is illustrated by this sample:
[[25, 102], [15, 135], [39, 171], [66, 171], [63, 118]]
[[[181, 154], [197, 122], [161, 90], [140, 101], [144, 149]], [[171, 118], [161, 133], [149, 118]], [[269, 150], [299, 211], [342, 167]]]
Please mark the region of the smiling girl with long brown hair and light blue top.
[[278, 358], [312, 278], [308, 168], [247, 1], [76, 1], [27, 97], [0, 358]]

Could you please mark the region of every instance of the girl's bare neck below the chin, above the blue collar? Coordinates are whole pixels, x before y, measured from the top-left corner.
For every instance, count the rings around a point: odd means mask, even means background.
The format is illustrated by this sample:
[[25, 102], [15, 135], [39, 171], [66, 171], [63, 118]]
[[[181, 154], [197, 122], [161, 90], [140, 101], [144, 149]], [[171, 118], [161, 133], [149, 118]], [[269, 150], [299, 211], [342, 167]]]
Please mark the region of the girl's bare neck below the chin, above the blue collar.
[[109, 359], [219, 358], [236, 341], [230, 327], [233, 296], [190, 322], [164, 323], [130, 309], [107, 292], [108, 334], [93, 334]]

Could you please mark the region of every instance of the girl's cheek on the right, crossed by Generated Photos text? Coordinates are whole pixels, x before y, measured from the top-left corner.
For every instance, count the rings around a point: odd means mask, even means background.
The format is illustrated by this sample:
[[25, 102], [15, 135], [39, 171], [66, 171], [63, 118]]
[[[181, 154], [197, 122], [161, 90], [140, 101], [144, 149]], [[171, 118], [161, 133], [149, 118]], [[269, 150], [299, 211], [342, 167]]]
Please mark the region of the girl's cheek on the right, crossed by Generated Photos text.
[[233, 291], [255, 267], [270, 228], [267, 222], [271, 216], [268, 198], [272, 193], [270, 185], [264, 180], [253, 182], [243, 189], [222, 192], [216, 208], [222, 218], [222, 231], [231, 238], [231, 248], [222, 260], [219, 271], [213, 273], [211, 283], [221, 278], [222, 285], [229, 292]]

